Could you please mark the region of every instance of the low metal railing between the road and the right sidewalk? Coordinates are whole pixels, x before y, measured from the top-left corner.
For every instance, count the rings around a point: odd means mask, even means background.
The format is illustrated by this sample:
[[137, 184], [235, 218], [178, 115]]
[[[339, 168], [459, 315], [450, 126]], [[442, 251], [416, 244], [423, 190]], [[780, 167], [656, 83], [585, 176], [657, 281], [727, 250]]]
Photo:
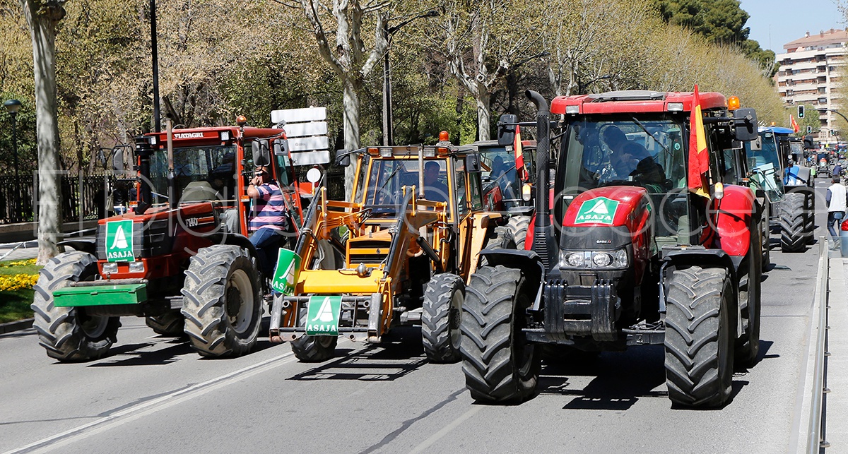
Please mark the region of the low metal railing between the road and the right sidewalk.
[[818, 237], [818, 281], [816, 289], [816, 304], [818, 305], [818, 334], [816, 336], [816, 365], [812, 372], [812, 401], [810, 404], [810, 427], [806, 434], [806, 451], [816, 454], [830, 444], [824, 440], [822, 413], [824, 394], [825, 357], [827, 356], [828, 341], [828, 278], [830, 263], [828, 257], [828, 241], [824, 236]]

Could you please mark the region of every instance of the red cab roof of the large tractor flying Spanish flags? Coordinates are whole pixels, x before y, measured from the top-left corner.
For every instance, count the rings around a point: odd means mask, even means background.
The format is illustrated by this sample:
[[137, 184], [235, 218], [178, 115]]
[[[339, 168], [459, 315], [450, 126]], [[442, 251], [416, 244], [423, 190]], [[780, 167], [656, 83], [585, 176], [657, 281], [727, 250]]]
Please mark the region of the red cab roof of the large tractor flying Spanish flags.
[[[591, 95], [555, 97], [550, 103], [551, 113], [644, 113], [690, 112], [691, 91], [625, 90], [607, 91]], [[728, 101], [721, 93], [705, 91], [699, 94], [700, 108], [727, 108]], [[577, 106], [577, 108], [569, 108]]]

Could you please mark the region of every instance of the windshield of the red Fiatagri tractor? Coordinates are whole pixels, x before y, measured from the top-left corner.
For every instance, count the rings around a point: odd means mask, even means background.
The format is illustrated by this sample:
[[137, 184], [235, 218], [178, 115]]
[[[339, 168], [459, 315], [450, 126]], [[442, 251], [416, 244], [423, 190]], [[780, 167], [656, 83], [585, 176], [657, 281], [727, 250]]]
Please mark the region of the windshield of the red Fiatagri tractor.
[[[174, 148], [176, 199], [229, 200], [235, 198], [236, 147], [203, 146]], [[158, 150], [150, 160], [154, 202], [168, 196], [168, 152]], [[187, 191], [191, 186], [192, 190]], [[185, 194], [186, 197], [183, 197]]]

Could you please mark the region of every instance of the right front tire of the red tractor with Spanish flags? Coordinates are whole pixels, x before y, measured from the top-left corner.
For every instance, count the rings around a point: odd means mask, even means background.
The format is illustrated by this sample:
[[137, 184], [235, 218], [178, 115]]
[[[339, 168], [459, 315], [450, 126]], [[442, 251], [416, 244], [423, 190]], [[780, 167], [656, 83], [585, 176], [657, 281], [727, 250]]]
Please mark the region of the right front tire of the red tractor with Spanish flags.
[[725, 269], [678, 269], [669, 280], [666, 385], [673, 403], [719, 407], [731, 393], [735, 315]]

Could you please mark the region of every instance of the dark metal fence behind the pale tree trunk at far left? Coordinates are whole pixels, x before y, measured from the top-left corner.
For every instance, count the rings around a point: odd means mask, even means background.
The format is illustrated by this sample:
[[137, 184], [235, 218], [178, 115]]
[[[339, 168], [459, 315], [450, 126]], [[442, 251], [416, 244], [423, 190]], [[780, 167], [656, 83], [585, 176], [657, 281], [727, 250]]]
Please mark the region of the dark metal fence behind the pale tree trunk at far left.
[[[61, 175], [62, 221], [77, 222], [106, 216], [108, 174]], [[0, 176], [0, 224], [37, 219], [37, 175]]]

